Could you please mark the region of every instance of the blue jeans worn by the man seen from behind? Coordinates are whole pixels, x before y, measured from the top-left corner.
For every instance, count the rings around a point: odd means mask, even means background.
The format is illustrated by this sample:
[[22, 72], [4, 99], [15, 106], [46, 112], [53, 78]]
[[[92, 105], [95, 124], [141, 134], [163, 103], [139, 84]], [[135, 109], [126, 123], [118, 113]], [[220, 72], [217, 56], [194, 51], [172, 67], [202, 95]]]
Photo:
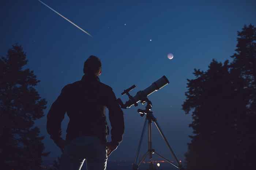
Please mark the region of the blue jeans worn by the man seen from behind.
[[65, 145], [60, 158], [60, 170], [80, 170], [84, 160], [87, 170], [106, 170], [106, 146], [98, 137], [80, 136]]

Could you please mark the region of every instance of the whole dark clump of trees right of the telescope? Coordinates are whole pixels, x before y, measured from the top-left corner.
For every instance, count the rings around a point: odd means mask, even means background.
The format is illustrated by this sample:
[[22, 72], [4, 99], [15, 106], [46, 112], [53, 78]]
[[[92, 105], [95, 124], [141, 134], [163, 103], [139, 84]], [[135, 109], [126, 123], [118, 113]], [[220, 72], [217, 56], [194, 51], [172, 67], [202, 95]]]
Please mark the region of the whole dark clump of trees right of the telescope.
[[189, 126], [194, 135], [185, 154], [187, 169], [252, 169], [249, 155], [256, 143], [255, 36], [255, 28], [245, 25], [238, 32], [233, 62], [212, 60], [206, 72], [195, 69], [196, 78], [188, 79], [182, 109], [186, 114], [192, 112]]

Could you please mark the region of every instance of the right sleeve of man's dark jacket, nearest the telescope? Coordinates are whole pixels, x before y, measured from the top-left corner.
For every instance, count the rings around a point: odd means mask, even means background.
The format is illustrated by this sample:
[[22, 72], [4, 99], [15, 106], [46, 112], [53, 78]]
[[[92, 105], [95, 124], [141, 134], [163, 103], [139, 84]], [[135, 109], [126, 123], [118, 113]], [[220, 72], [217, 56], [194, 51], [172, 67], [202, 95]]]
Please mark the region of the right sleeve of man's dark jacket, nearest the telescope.
[[109, 120], [111, 124], [111, 139], [114, 145], [119, 145], [123, 140], [124, 134], [124, 114], [121, 110], [116, 95], [113, 90], [110, 90], [107, 99], [107, 107], [109, 109]]

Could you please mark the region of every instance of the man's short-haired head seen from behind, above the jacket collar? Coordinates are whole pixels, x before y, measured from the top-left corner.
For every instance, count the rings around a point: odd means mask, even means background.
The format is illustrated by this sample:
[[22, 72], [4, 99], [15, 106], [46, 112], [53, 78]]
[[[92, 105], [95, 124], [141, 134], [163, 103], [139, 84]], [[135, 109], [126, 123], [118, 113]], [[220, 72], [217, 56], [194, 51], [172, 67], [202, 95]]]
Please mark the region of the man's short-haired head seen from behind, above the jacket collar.
[[98, 57], [91, 55], [83, 66], [84, 74], [101, 75], [101, 60]]

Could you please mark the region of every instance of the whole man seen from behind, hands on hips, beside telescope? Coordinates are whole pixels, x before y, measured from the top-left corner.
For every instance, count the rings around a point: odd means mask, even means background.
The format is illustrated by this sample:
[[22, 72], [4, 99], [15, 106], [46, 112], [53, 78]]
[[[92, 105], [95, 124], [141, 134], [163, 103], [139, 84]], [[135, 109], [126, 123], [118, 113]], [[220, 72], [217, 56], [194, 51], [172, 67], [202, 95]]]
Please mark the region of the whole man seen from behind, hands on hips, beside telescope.
[[[112, 88], [99, 81], [101, 61], [90, 56], [84, 62], [80, 81], [66, 85], [47, 115], [47, 132], [62, 151], [61, 170], [80, 170], [86, 160], [87, 170], [106, 170], [108, 156], [123, 139], [123, 111]], [[105, 107], [109, 109], [111, 142]], [[67, 112], [66, 140], [61, 138], [61, 122]]]

